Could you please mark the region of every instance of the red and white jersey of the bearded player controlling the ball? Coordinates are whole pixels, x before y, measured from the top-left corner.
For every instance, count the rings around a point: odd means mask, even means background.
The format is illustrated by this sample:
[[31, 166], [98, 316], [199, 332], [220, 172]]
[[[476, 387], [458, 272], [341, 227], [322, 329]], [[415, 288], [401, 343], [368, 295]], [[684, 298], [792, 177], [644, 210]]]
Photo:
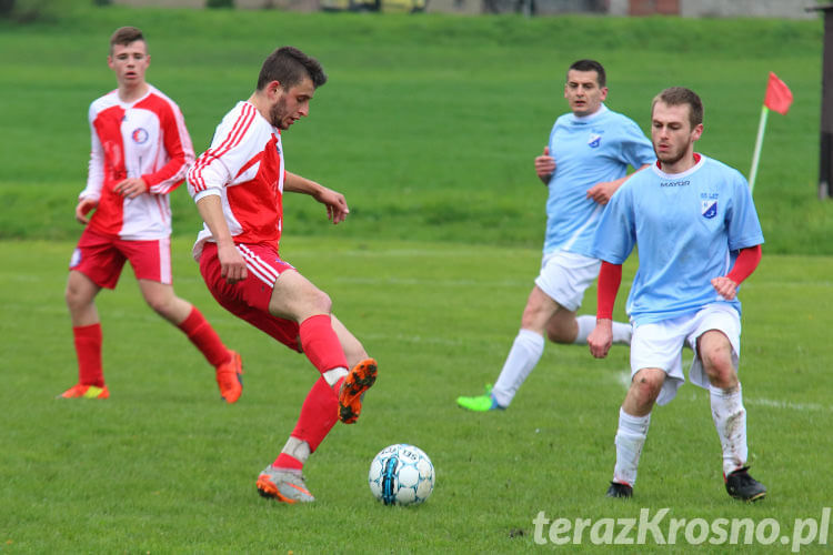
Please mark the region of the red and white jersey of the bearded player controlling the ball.
[[[235, 243], [271, 244], [278, 250], [283, 219], [283, 147], [281, 132], [254, 104], [238, 102], [214, 131], [209, 150], [188, 171], [188, 191], [194, 202], [219, 195]], [[212, 241], [203, 225], [193, 248]]]

